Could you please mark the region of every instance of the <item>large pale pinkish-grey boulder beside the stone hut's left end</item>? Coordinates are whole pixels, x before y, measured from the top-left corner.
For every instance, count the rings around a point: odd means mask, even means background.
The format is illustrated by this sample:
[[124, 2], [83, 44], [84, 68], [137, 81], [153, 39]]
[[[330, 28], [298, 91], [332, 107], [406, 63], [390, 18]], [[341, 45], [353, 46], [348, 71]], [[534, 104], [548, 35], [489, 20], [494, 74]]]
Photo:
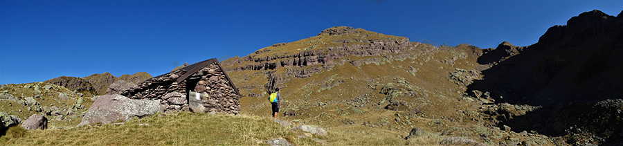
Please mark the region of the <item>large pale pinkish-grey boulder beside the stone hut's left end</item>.
[[84, 114], [78, 127], [93, 123], [127, 121], [134, 117], [150, 116], [162, 111], [160, 100], [132, 100], [123, 95], [101, 95]]

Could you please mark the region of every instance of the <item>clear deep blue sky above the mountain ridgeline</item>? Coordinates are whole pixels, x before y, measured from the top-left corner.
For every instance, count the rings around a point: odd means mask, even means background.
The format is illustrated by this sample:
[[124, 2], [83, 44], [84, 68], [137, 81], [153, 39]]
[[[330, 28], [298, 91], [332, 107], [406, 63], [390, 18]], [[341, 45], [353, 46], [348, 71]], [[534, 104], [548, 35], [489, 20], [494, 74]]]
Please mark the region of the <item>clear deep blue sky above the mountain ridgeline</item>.
[[527, 46], [581, 12], [618, 15], [623, 1], [0, 1], [0, 84], [62, 75], [115, 76], [352, 26], [411, 42]]

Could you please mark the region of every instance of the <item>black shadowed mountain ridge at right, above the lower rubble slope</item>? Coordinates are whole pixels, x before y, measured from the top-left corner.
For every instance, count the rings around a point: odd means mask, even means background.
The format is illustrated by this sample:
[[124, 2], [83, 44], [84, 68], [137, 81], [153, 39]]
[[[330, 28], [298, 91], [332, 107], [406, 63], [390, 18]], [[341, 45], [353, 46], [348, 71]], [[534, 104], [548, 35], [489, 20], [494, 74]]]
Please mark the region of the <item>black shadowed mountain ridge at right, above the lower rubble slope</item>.
[[[599, 10], [553, 26], [527, 47], [504, 42], [478, 58], [481, 64], [498, 62], [483, 71], [487, 80], [471, 89], [490, 91], [503, 101], [557, 104], [598, 101], [623, 95], [623, 18]], [[590, 98], [589, 98], [590, 97]], [[500, 101], [501, 102], [501, 101]]]

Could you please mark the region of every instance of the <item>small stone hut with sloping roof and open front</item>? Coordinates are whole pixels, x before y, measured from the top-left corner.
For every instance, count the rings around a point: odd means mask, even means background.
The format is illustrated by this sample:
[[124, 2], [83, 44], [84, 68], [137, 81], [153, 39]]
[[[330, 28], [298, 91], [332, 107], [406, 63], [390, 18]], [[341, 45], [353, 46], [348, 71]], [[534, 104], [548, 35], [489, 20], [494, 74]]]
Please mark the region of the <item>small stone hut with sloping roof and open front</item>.
[[240, 111], [240, 93], [215, 58], [152, 77], [120, 93], [128, 98], [160, 100], [165, 112]]

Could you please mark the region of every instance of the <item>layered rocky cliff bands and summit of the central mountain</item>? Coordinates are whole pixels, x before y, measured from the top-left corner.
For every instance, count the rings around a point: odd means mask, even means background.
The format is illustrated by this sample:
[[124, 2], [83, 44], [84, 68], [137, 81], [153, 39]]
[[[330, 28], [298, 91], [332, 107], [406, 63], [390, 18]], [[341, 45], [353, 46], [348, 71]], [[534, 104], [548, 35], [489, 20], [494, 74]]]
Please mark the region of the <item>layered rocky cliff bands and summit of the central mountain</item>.
[[[323, 70], [330, 70], [334, 60], [343, 60], [347, 56], [370, 57], [385, 54], [407, 54], [417, 42], [409, 42], [406, 37], [396, 37], [374, 33], [361, 28], [336, 26], [323, 30], [318, 36], [298, 42], [274, 44], [262, 48], [246, 57], [234, 57], [222, 62], [226, 71], [269, 71], [290, 67], [286, 73], [267, 73], [269, 82], [264, 85], [266, 91], [288, 82], [289, 77], [309, 77]], [[406, 57], [401, 56], [401, 57]], [[381, 60], [365, 60], [366, 64]], [[350, 63], [361, 64], [361, 61]]]

